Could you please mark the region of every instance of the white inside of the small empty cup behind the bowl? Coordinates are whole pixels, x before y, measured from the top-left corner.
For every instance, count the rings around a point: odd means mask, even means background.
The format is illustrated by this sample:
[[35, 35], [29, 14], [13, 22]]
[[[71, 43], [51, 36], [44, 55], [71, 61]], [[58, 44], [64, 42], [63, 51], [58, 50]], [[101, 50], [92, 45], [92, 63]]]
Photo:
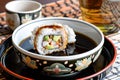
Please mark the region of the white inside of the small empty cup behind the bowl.
[[42, 8], [42, 4], [36, 1], [11, 1], [6, 4], [6, 9], [17, 13], [36, 12]]

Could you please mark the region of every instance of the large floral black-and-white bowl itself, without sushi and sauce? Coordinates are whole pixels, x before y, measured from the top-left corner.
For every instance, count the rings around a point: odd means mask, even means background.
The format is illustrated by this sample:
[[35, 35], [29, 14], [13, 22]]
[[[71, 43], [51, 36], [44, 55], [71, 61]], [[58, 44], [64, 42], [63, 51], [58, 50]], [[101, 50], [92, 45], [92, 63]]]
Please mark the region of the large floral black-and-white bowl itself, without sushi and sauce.
[[[21, 41], [32, 36], [31, 32], [35, 27], [53, 23], [70, 26], [75, 32], [84, 34], [94, 40], [97, 43], [97, 46], [87, 52], [70, 56], [45, 56], [32, 53], [19, 46]], [[87, 68], [92, 62], [96, 61], [101, 54], [102, 46], [104, 44], [104, 35], [95, 25], [82, 20], [49, 17], [33, 20], [16, 28], [12, 34], [12, 42], [21, 61], [28, 67], [35, 70], [38, 69], [40, 72], [45, 72], [49, 75], [65, 75], [79, 72]]]

